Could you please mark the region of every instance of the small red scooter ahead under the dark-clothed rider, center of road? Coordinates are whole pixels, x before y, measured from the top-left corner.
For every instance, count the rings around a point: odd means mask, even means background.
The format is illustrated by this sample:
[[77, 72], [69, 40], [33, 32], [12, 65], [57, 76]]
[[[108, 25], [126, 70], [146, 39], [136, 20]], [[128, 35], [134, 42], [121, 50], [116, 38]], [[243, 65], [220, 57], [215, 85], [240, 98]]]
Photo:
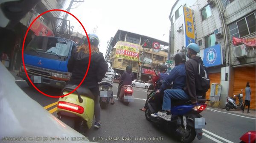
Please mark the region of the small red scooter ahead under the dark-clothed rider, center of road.
[[[122, 81], [119, 83], [119, 87], [122, 85]], [[134, 96], [132, 95], [133, 89], [131, 85], [123, 85], [120, 90], [120, 94], [117, 95], [119, 101], [122, 101], [125, 105], [134, 101]]]

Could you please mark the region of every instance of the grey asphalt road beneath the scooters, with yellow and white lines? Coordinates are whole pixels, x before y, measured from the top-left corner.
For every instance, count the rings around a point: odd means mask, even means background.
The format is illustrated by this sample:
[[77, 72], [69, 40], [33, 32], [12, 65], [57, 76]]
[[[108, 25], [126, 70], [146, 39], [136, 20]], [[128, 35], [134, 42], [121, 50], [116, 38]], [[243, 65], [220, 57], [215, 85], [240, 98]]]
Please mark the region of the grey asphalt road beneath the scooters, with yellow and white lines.
[[[58, 98], [42, 95], [29, 87], [25, 81], [16, 83], [32, 99], [57, 116], [55, 111]], [[50, 87], [43, 87], [41, 91], [48, 95], [58, 95], [60, 92], [60, 90]], [[113, 84], [113, 93], [116, 97], [117, 84], [115, 83]], [[82, 134], [90, 141], [99, 143], [177, 143], [177, 140], [148, 122], [144, 112], [139, 110], [145, 104], [146, 89], [135, 87], [133, 95], [134, 102], [128, 106], [115, 100], [114, 105], [102, 109], [102, 127], [100, 129], [92, 127]], [[206, 118], [207, 122], [203, 130], [204, 136], [201, 140], [195, 138], [193, 143], [239, 143], [241, 135], [247, 131], [256, 130], [255, 117], [210, 107], [207, 107], [201, 115]], [[130, 140], [127, 140], [128, 137]]]

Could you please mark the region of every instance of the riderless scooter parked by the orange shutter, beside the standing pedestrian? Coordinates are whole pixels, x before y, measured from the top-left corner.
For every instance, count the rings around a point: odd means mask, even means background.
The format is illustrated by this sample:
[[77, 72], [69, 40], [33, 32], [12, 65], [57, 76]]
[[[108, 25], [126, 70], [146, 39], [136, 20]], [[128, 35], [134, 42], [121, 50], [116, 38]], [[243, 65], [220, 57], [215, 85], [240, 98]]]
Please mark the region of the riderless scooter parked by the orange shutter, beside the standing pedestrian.
[[[234, 95], [234, 98], [232, 97], [227, 97], [227, 102], [226, 102], [226, 106], [225, 109], [227, 111], [229, 111], [230, 109], [237, 109], [237, 108], [241, 108], [243, 110], [243, 89], [241, 89], [241, 93], [239, 93], [238, 95]], [[236, 104], [236, 97], [238, 97], [239, 99], [239, 103]]]

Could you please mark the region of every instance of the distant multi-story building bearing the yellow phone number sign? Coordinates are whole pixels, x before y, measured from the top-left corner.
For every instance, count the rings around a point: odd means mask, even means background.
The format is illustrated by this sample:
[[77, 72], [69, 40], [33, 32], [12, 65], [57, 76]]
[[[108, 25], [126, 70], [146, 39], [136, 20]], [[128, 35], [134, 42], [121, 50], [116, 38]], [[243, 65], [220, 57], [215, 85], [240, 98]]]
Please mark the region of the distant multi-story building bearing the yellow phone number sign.
[[[157, 49], [143, 48], [142, 45], [146, 40], [158, 46]], [[105, 60], [111, 60], [113, 69], [120, 74], [126, 70], [127, 65], [132, 65], [137, 79], [146, 81], [154, 75], [152, 68], [165, 63], [168, 53], [161, 49], [167, 45], [168, 42], [118, 30], [108, 43]]]

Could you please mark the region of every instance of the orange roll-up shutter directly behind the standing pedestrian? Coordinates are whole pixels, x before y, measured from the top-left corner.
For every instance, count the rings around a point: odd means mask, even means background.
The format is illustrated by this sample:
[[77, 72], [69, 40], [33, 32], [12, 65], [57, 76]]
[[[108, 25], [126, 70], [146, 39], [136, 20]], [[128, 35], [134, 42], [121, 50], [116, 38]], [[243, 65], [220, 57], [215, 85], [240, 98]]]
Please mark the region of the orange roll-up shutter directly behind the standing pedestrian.
[[255, 73], [256, 73], [255, 66], [234, 68], [233, 95], [237, 95], [238, 93], [240, 93], [241, 89], [243, 89], [243, 95], [244, 95], [243, 100], [245, 100], [245, 87], [246, 87], [247, 81], [249, 81], [250, 89], [251, 89], [250, 109], [256, 109]]

